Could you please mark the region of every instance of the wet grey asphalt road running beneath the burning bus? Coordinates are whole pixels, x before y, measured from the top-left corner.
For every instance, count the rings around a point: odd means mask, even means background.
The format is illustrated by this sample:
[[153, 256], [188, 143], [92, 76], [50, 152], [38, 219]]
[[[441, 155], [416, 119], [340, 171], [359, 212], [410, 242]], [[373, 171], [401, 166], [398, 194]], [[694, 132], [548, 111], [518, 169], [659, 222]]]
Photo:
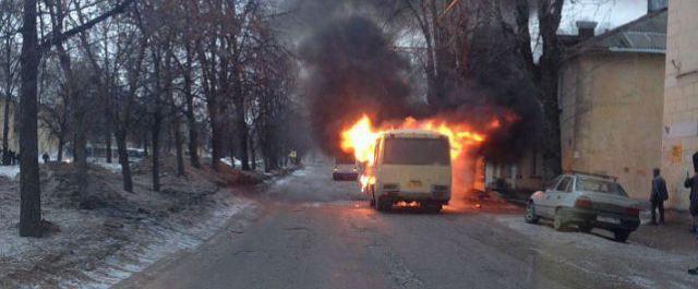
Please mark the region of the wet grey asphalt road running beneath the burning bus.
[[256, 196], [249, 220], [118, 288], [696, 288], [690, 256], [527, 225], [520, 209], [371, 209], [310, 166]]

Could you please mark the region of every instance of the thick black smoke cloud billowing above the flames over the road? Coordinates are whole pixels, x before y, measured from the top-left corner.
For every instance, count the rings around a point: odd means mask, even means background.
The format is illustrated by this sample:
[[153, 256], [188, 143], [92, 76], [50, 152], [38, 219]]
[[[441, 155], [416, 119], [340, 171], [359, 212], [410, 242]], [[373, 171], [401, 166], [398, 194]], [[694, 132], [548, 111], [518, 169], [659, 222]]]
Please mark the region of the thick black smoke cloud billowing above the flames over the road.
[[413, 112], [409, 63], [372, 20], [350, 15], [327, 22], [300, 51], [313, 134], [326, 152], [338, 153], [339, 132], [362, 113], [380, 123]]

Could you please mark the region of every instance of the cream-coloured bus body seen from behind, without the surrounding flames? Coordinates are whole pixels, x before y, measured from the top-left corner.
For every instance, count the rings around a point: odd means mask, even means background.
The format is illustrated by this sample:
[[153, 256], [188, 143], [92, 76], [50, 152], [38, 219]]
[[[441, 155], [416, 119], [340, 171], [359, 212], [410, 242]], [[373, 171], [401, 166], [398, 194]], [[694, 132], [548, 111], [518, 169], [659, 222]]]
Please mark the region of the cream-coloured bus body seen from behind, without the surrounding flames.
[[365, 192], [381, 212], [398, 202], [441, 212], [450, 200], [450, 143], [446, 135], [424, 130], [396, 130], [376, 141], [374, 159], [364, 173]]

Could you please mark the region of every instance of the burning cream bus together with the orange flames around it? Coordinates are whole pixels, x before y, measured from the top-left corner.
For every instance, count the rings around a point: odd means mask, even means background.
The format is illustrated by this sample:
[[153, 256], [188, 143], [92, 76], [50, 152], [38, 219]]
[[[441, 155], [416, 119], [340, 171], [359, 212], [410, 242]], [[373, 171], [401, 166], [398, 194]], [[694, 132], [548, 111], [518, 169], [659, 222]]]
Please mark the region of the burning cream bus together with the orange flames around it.
[[[489, 129], [498, 128], [493, 122]], [[363, 116], [340, 133], [340, 148], [365, 168], [359, 177], [362, 191], [378, 210], [395, 203], [441, 210], [452, 195], [462, 195], [472, 148], [485, 140], [467, 123], [446, 119], [383, 122], [375, 127]], [[455, 171], [455, 172], [454, 172]]]

